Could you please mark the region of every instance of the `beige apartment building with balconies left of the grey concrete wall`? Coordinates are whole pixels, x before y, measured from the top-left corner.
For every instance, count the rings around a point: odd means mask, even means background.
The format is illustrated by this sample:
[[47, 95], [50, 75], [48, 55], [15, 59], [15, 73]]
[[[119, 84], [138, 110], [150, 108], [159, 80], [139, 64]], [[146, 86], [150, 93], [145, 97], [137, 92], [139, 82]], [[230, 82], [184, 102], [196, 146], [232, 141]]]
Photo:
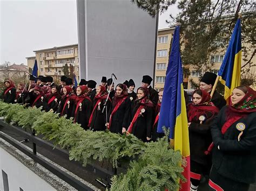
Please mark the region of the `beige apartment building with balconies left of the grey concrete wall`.
[[33, 52], [36, 56], [27, 58], [28, 67], [32, 66], [33, 68], [36, 59], [39, 75], [52, 76], [54, 79], [60, 80], [60, 76], [64, 75], [63, 68], [67, 63], [69, 68], [73, 66], [76, 79], [79, 79], [78, 44], [39, 49]]

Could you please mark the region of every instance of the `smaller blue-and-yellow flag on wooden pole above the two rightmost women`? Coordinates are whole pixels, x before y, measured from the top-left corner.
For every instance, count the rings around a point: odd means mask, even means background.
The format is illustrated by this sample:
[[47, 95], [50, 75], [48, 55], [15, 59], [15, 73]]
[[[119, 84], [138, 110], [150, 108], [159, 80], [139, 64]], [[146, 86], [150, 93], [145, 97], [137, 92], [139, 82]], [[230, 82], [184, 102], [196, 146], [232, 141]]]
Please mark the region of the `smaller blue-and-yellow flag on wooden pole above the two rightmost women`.
[[227, 52], [218, 72], [220, 82], [225, 86], [225, 100], [231, 95], [235, 87], [240, 86], [242, 61], [241, 44], [241, 21], [239, 18], [235, 24], [230, 44], [228, 44]]

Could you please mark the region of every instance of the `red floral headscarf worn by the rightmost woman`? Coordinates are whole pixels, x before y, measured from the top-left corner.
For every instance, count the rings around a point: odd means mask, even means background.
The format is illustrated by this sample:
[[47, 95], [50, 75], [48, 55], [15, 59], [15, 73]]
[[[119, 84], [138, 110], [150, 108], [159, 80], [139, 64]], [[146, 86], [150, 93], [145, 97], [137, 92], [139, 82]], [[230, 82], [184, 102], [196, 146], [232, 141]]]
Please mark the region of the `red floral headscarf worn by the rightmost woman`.
[[[256, 111], [256, 91], [252, 88], [247, 87], [247, 93], [245, 96], [236, 104], [232, 105], [231, 96], [228, 100], [228, 108], [226, 110], [226, 122], [221, 127], [221, 133], [224, 135], [232, 124], [237, 122], [239, 119], [247, 116], [248, 114]], [[214, 144], [212, 143], [205, 154], [209, 154], [213, 149]]]

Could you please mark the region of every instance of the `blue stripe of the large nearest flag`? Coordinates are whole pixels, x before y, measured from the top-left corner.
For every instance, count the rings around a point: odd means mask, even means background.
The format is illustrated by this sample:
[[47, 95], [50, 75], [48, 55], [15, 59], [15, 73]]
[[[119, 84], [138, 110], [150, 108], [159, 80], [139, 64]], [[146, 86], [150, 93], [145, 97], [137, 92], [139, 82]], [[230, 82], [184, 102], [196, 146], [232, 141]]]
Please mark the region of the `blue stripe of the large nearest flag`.
[[158, 132], [162, 127], [170, 128], [170, 138], [174, 135], [176, 117], [181, 114], [181, 83], [183, 83], [182, 63], [179, 50], [179, 30], [177, 26], [173, 33], [173, 41], [169, 63], [166, 70], [163, 99], [158, 121]]

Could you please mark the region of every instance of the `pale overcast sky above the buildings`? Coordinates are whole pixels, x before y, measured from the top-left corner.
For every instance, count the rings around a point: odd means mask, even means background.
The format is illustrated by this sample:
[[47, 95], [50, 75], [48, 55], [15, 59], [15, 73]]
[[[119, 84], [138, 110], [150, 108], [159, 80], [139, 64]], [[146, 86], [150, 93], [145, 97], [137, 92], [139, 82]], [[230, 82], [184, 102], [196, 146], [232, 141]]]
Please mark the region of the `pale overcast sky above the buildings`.
[[[161, 14], [158, 29], [177, 11], [171, 6]], [[0, 0], [0, 23], [1, 63], [26, 64], [37, 49], [78, 43], [76, 0]]]

